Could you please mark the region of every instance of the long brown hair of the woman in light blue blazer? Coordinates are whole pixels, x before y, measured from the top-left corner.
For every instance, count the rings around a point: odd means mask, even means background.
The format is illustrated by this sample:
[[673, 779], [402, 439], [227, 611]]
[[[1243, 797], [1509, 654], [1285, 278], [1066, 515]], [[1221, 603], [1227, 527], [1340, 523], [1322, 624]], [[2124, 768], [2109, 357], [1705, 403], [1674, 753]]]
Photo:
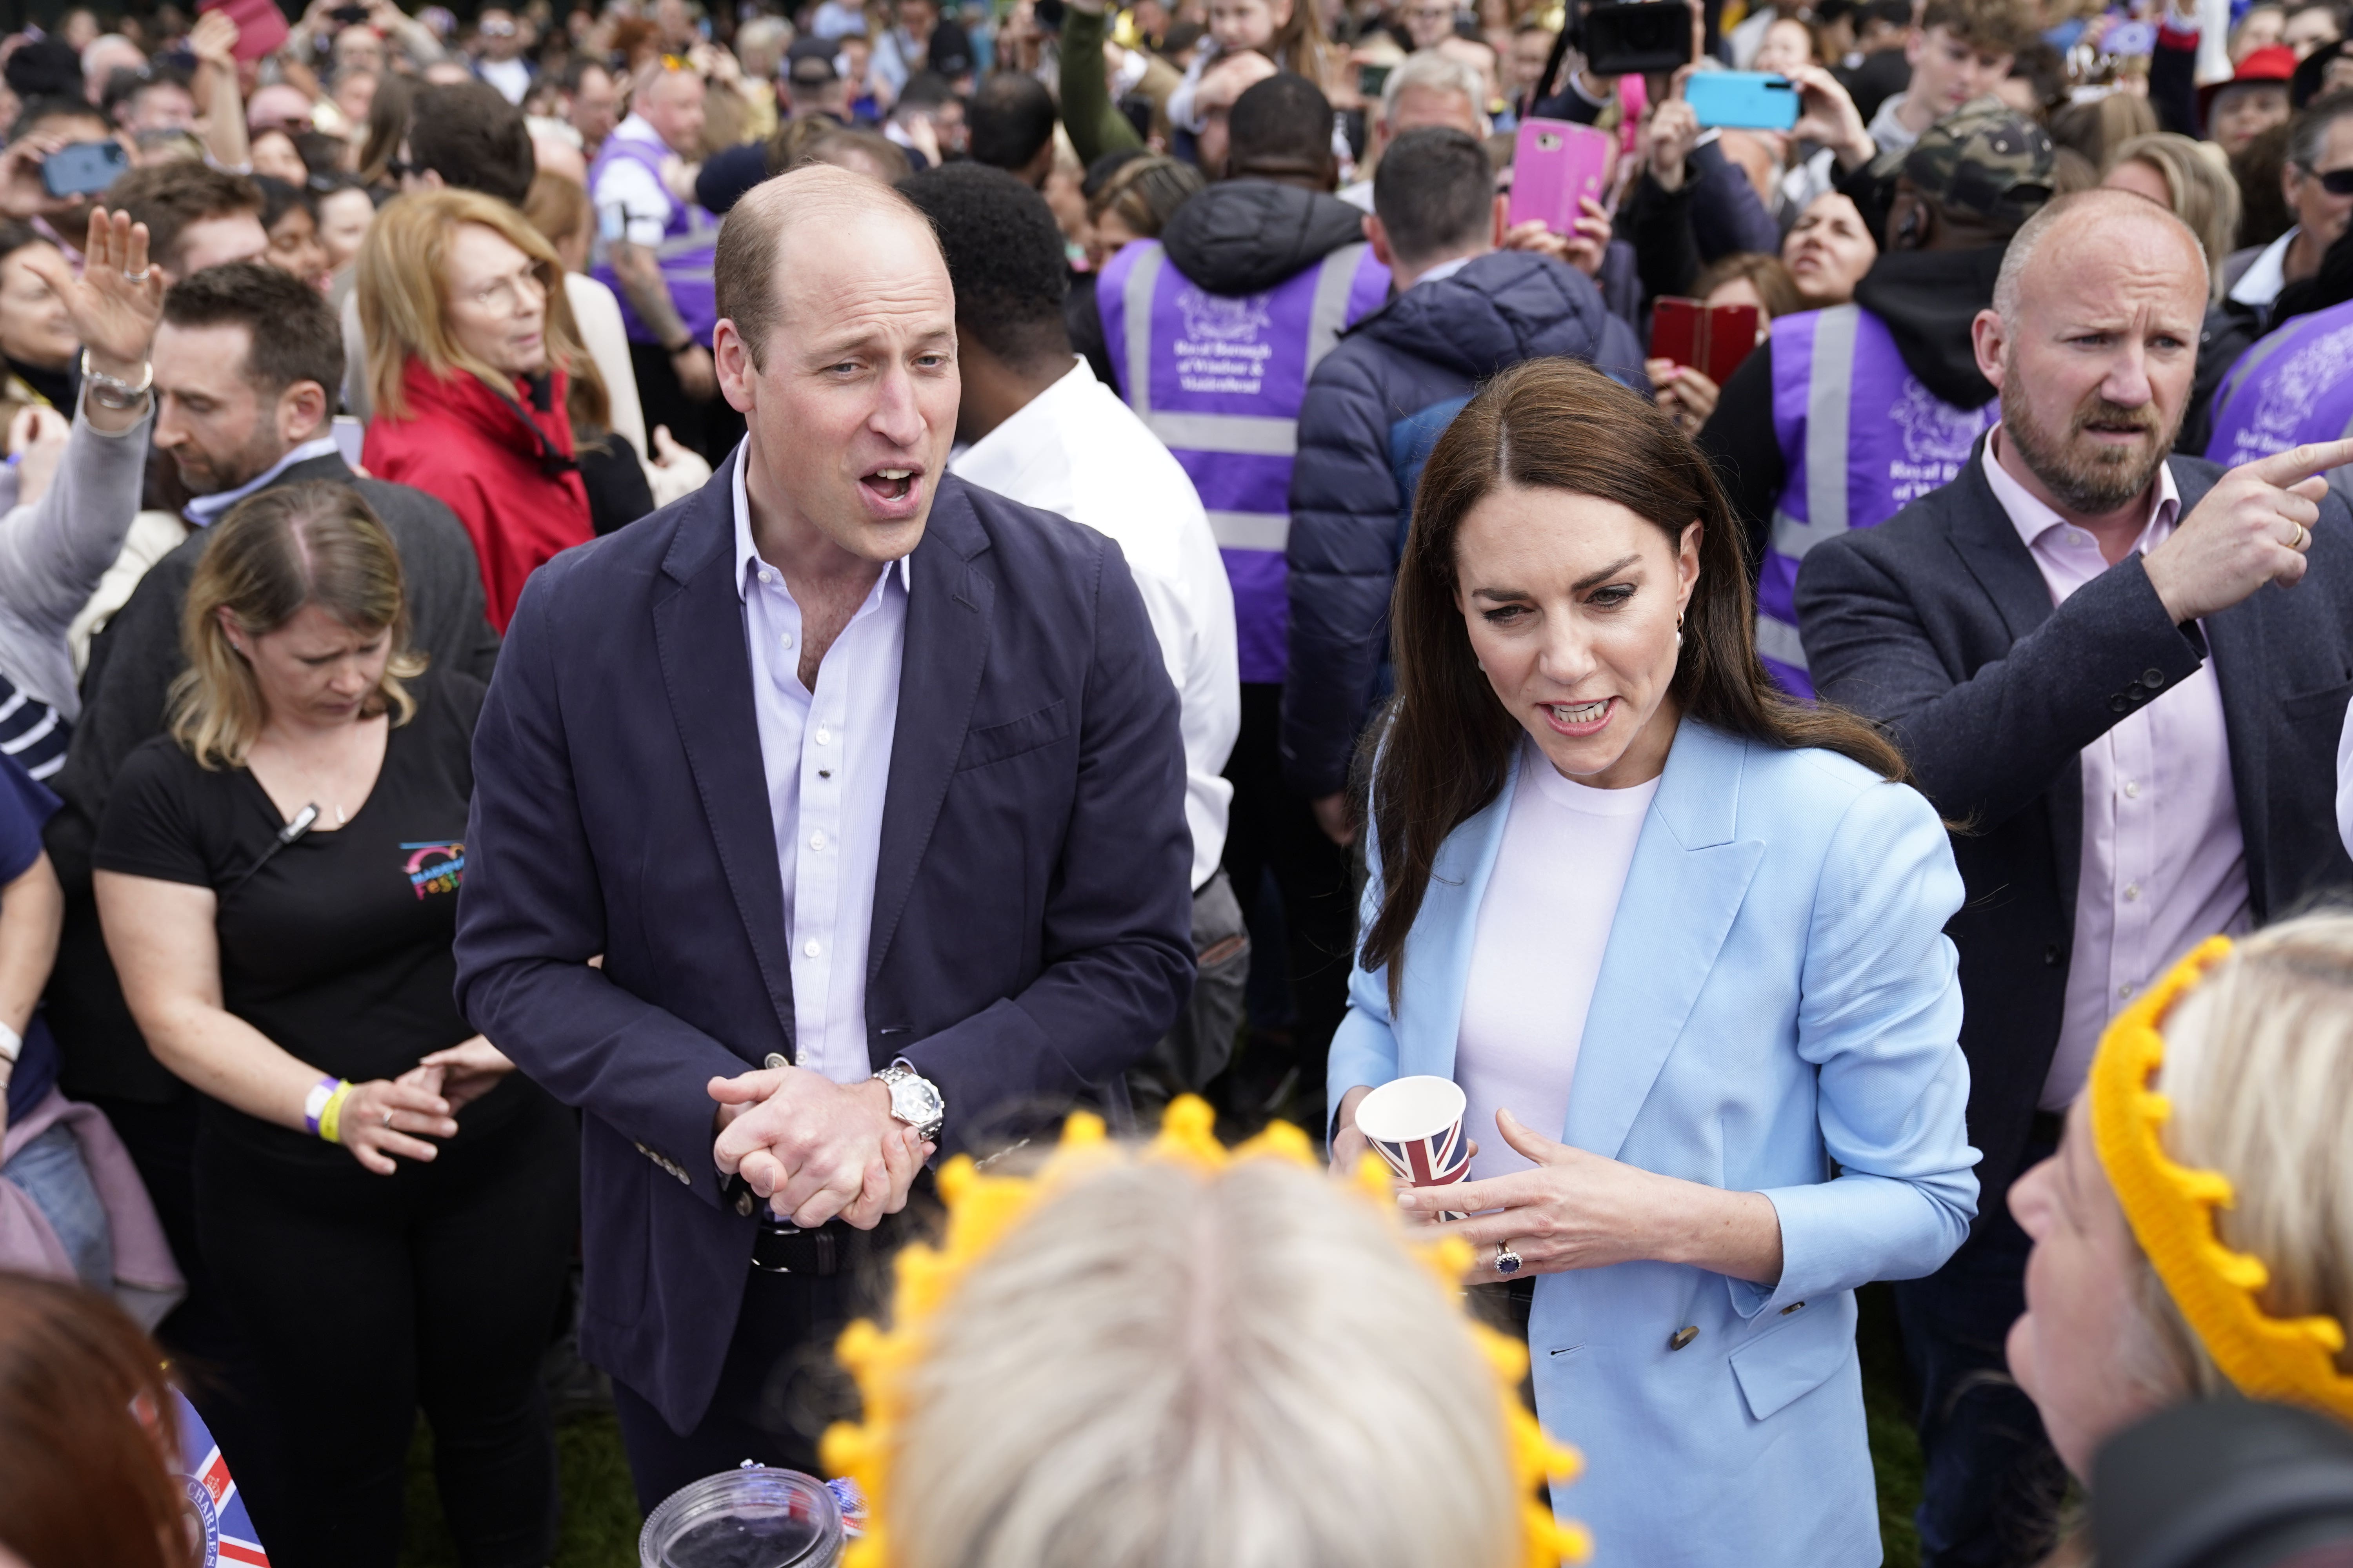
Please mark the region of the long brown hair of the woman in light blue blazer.
[[1504, 790], [1525, 733], [1480, 672], [1457, 607], [1454, 541], [1471, 508], [1504, 487], [1614, 501], [1657, 524], [1668, 550], [1699, 522], [1699, 583], [1668, 686], [1682, 717], [1762, 745], [1824, 748], [1904, 778], [1904, 757], [1875, 729], [1845, 710], [1798, 703], [1765, 675], [1739, 529], [1699, 447], [1591, 364], [1515, 364], [1438, 437], [1388, 611], [1398, 698], [1367, 736], [1379, 748], [1372, 818], [1384, 882], [1360, 957], [1365, 969], [1388, 964], [1391, 1006], [1438, 846]]

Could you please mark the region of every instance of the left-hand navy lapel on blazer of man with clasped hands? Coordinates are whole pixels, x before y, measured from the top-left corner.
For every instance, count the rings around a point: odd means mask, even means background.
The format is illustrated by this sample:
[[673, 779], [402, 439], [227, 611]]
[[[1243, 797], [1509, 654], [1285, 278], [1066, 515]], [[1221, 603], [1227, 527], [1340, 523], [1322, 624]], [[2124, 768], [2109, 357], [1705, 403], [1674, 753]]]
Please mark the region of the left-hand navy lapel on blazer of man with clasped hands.
[[678, 741], [694, 773], [727, 891], [751, 933], [760, 980], [784, 1037], [793, 1039], [793, 966], [786, 957], [784, 875], [760, 762], [744, 599], [734, 581], [734, 458], [704, 484], [678, 520], [661, 559], [675, 583], [654, 599], [654, 649], [671, 696]]

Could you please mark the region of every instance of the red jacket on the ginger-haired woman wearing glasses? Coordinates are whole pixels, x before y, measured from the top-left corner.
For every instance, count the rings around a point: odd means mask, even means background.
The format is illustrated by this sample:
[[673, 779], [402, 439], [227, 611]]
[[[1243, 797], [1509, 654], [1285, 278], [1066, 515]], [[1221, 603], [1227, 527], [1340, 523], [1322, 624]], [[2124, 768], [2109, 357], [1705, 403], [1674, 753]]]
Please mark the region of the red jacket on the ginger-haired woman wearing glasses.
[[473, 371], [435, 376], [414, 357], [400, 386], [409, 416], [379, 411], [367, 423], [360, 463], [379, 480], [414, 484], [449, 503], [473, 534], [489, 623], [504, 637], [522, 578], [558, 550], [595, 536], [588, 489], [572, 468], [565, 374], [548, 376], [544, 411], [527, 381], [518, 378], [513, 402], [504, 402]]

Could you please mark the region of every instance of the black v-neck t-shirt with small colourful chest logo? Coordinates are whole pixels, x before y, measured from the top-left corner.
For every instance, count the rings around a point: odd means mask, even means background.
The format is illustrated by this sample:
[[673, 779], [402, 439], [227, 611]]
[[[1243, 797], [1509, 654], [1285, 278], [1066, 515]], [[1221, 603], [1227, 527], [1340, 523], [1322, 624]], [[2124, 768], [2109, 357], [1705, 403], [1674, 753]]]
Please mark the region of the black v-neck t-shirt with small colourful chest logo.
[[[452, 997], [449, 945], [482, 684], [431, 672], [407, 686], [416, 717], [386, 736], [376, 788], [344, 827], [329, 813], [273, 853], [285, 818], [261, 783], [247, 769], [202, 769], [155, 736], [122, 762], [92, 853], [99, 870], [219, 893], [228, 1011], [353, 1084], [400, 1077], [473, 1034]], [[501, 1103], [513, 1095], [468, 1107], [459, 1135], [504, 1119]], [[240, 1143], [325, 1147], [226, 1105], [207, 1103], [207, 1114]]]

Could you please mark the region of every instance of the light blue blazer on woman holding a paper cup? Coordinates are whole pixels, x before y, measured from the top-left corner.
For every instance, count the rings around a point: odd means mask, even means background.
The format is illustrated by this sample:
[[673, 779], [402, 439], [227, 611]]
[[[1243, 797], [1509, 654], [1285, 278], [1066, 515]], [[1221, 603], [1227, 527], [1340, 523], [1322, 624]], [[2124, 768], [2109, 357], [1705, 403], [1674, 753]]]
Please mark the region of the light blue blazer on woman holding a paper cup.
[[[1454, 1077], [1511, 795], [1506, 778], [1440, 846], [1398, 1011], [1386, 966], [1351, 976], [1334, 1105], [1358, 1084]], [[1586, 1455], [1555, 1507], [1593, 1528], [1598, 1566], [1880, 1561], [1854, 1286], [1934, 1272], [1977, 1213], [1960, 980], [1944, 936], [1960, 898], [1946, 832], [1918, 792], [1831, 752], [1692, 719], [1675, 733], [1558, 1135], [1762, 1192], [1781, 1215], [1784, 1262], [1772, 1291], [1666, 1262], [1537, 1279], [1537, 1415]], [[1379, 867], [1365, 919], [1377, 907]], [[1699, 1333], [1671, 1349], [1682, 1328]]]

